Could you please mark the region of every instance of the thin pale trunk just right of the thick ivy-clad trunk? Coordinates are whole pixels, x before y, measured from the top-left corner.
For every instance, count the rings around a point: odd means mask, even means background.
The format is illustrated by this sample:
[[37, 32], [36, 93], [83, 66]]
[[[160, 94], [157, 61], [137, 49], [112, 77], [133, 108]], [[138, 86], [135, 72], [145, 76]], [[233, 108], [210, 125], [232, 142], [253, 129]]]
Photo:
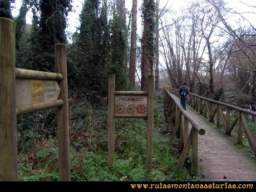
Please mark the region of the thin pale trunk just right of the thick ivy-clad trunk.
[[159, 2], [156, 1], [156, 62], [155, 62], [155, 88], [159, 88]]

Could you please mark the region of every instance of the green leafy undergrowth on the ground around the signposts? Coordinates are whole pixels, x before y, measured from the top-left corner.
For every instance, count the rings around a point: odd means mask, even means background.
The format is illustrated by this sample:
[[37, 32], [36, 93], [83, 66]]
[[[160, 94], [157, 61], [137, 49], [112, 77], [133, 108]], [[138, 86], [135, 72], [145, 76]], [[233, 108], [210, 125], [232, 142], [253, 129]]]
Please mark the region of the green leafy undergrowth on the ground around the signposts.
[[[107, 105], [73, 101], [70, 105], [71, 180], [73, 181], [190, 181], [185, 168], [176, 168], [175, 148], [161, 117], [162, 96], [155, 94], [152, 171], [146, 173], [146, 121], [115, 120], [115, 163], [107, 165]], [[49, 115], [50, 114], [50, 115]], [[23, 181], [57, 181], [58, 148], [55, 111], [18, 119], [18, 168]], [[36, 116], [36, 118], [35, 118]], [[33, 117], [33, 118], [32, 118]]]

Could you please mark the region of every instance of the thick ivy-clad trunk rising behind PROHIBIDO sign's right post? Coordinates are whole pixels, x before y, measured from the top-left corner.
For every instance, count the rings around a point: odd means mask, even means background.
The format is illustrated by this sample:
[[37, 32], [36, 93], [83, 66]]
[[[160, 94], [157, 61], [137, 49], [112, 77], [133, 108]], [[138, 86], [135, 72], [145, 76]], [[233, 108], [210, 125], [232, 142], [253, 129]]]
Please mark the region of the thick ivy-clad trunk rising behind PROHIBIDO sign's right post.
[[154, 33], [155, 33], [155, 3], [154, 0], [143, 2], [143, 37], [142, 37], [142, 67], [141, 67], [141, 90], [147, 90], [147, 76], [152, 75], [154, 63]]

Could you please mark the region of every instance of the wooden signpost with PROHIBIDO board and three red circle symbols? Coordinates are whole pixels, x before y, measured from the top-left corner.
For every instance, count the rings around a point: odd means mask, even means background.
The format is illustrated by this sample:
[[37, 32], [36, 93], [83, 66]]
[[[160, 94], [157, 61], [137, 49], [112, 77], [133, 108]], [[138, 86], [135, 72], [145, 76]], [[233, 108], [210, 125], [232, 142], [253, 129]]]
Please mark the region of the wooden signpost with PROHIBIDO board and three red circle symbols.
[[152, 167], [154, 126], [154, 76], [147, 77], [147, 91], [115, 91], [115, 76], [109, 76], [108, 162], [115, 159], [115, 118], [147, 118], [146, 169]]

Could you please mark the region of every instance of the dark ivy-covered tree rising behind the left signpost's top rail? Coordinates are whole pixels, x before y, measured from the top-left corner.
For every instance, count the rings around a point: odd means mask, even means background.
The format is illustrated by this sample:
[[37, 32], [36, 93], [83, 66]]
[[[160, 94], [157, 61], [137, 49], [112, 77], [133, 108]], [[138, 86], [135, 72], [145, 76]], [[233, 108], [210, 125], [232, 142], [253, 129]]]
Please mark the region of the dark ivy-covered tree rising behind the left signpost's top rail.
[[71, 11], [71, 1], [39, 2], [40, 18], [35, 22], [37, 29], [32, 31], [32, 66], [34, 70], [55, 71], [54, 45], [66, 43], [66, 17]]

